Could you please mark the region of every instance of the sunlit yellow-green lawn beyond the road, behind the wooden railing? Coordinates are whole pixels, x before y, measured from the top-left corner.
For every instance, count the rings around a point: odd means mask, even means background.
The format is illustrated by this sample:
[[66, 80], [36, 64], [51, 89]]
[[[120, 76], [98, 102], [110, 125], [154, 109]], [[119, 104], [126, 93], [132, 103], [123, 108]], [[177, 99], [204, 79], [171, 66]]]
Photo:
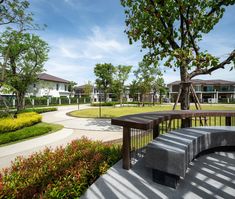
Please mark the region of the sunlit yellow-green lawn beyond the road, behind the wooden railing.
[[[101, 108], [101, 117], [102, 118], [114, 118], [124, 115], [153, 112], [153, 111], [169, 111], [172, 110], [172, 105], [156, 105], [156, 106], [147, 106], [147, 107], [102, 107]], [[191, 106], [192, 110], [195, 110], [195, 106]], [[235, 110], [234, 104], [209, 104], [202, 105], [203, 110]], [[177, 106], [179, 110], [179, 106]], [[98, 118], [99, 117], [99, 108], [84, 109], [80, 111], [72, 111], [69, 115], [74, 117], [83, 117], [83, 118]]]

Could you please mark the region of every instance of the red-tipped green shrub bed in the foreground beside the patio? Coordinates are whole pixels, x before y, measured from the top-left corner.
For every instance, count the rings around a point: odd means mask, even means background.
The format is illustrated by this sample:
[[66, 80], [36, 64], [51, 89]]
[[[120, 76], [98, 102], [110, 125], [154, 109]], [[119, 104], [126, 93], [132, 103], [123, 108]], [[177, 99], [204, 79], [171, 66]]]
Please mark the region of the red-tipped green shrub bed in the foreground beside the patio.
[[2, 172], [0, 198], [77, 198], [120, 154], [119, 147], [83, 138], [66, 148], [18, 157]]

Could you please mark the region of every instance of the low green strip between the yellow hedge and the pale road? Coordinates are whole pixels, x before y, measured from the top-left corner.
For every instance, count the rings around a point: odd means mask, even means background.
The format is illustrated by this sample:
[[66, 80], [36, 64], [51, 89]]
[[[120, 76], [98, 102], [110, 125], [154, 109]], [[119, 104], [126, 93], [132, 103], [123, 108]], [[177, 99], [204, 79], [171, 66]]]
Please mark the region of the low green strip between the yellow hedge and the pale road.
[[52, 133], [62, 128], [62, 125], [41, 122], [36, 125], [25, 127], [17, 131], [0, 134], [0, 145], [25, 140], [27, 138], [36, 137], [46, 133]]

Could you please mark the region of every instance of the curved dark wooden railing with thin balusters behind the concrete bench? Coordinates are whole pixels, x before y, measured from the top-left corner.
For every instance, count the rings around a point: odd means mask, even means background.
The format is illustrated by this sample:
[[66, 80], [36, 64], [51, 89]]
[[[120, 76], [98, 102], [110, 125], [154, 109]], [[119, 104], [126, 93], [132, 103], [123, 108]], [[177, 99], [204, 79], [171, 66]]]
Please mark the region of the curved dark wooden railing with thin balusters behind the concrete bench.
[[159, 134], [197, 126], [235, 126], [235, 111], [159, 111], [112, 119], [123, 127], [123, 168], [144, 156], [145, 146]]

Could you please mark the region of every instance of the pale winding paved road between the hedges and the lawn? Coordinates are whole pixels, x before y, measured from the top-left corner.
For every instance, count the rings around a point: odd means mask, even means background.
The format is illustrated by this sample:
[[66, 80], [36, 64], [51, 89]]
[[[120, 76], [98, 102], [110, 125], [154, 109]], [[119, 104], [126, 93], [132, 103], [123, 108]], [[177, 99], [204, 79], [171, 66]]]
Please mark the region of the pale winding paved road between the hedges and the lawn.
[[[81, 105], [80, 109], [91, 108]], [[111, 141], [122, 138], [120, 127], [110, 124], [108, 119], [85, 119], [67, 116], [66, 113], [77, 110], [77, 106], [61, 106], [58, 111], [44, 113], [43, 121], [62, 124], [64, 128], [58, 132], [0, 147], [0, 169], [11, 164], [17, 156], [28, 156], [45, 147], [65, 146], [74, 139], [86, 136], [92, 140]]]

